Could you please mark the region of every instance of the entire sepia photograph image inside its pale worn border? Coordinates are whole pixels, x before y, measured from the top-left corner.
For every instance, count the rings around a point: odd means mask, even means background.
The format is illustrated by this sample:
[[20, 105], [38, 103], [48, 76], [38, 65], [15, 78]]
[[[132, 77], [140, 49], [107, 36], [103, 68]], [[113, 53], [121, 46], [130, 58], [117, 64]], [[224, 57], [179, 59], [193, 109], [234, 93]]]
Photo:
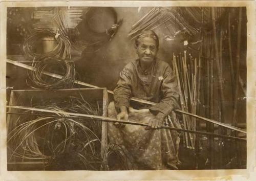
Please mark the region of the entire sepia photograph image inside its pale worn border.
[[246, 6], [35, 5], [6, 8], [8, 172], [248, 169]]

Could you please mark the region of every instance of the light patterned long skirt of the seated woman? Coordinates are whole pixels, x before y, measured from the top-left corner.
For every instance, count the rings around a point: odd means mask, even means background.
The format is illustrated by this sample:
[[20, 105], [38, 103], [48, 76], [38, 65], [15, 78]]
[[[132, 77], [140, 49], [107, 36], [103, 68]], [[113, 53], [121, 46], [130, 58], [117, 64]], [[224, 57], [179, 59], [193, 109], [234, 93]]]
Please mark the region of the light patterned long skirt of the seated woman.
[[[129, 119], [148, 123], [154, 115], [148, 109], [130, 108]], [[114, 102], [108, 106], [108, 116], [116, 118]], [[173, 112], [166, 118], [165, 124], [181, 128]], [[168, 129], [150, 129], [138, 125], [125, 125], [120, 128], [108, 124], [109, 144], [116, 145], [125, 158], [127, 170], [166, 170], [178, 169], [179, 133]], [[115, 159], [115, 158], [114, 158]], [[115, 168], [118, 170], [118, 168]]]

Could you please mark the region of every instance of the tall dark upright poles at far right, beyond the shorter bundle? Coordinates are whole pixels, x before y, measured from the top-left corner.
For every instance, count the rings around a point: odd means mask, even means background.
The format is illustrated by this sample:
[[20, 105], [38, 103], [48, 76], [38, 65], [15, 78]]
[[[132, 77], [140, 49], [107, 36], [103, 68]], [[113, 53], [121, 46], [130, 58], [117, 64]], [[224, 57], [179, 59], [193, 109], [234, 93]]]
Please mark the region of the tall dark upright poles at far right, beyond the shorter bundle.
[[[212, 21], [212, 30], [208, 31], [208, 35], [204, 43], [206, 44], [204, 48], [204, 55], [206, 57], [204, 66], [205, 81], [204, 83], [204, 103], [205, 103], [205, 115], [210, 119], [217, 117], [219, 122], [224, 123], [225, 114], [225, 97], [224, 97], [224, 83], [223, 83], [223, 50], [224, 46], [227, 45], [229, 64], [230, 64], [230, 80], [233, 88], [232, 99], [233, 101], [233, 115], [232, 115], [232, 126], [237, 126], [237, 110], [238, 110], [238, 99], [239, 99], [239, 69], [240, 69], [240, 49], [241, 49], [241, 24], [242, 24], [242, 8], [239, 8], [238, 14], [238, 30], [237, 30], [237, 49], [236, 49], [236, 64], [233, 65], [232, 60], [232, 44], [231, 44], [231, 22], [230, 14], [227, 16], [227, 24], [216, 23], [218, 16], [218, 8], [210, 8], [210, 19]], [[235, 30], [236, 31], [236, 30]], [[227, 36], [225, 36], [225, 32]], [[225, 39], [225, 37], [227, 37]], [[224, 41], [228, 42], [224, 44]], [[236, 69], [236, 71], [234, 71]], [[235, 74], [234, 74], [235, 73]], [[217, 84], [215, 84], [215, 78], [217, 78]], [[214, 85], [217, 85], [218, 92], [214, 91]], [[216, 96], [215, 96], [216, 95]], [[215, 111], [216, 103], [214, 102], [214, 97], [217, 97], [218, 102], [218, 112]], [[206, 123], [206, 128], [208, 132], [214, 132], [214, 126], [211, 123]], [[219, 134], [227, 134], [227, 130], [222, 127], [218, 127]], [[234, 134], [234, 133], [233, 133]], [[234, 134], [236, 135], [236, 134]], [[237, 136], [237, 135], [236, 135]], [[215, 143], [213, 137], [208, 137], [208, 151], [207, 158], [209, 159], [209, 167], [211, 169], [224, 168], [225, 163], [230, 159], [230, 154], [228, 149], [228, 141], [223, 138], [218, 139], [218, 143]], [[215, 159], [217, 155], [214, 154], [214, 147], [218, 145], [218, 160]], [[241, 153], [239, 148], [239, 142], [235, 141], [233, 146], [235, 151], [235, 156], [237, 160], [238, 168], [241, 166]], [[225, 149], [226, 148], [226, 149]], [[232, 149], [232, 148], [231, 148]], [[216, 165], [218, 163], [218, 165]]]

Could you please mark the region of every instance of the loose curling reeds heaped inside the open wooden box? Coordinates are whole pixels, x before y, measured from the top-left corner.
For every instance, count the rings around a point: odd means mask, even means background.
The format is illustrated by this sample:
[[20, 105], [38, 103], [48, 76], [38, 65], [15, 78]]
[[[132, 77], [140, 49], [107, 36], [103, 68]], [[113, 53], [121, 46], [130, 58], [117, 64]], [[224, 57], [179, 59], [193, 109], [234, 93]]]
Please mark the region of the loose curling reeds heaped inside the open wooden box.
[[[63, 102], [42, 102], [32, 107], [78, 111], [92, 115], [98, 115], [101, 111], [97, 106], [84, 101], [82, 97], [70, 97], [70, 100]], [[84, 169], [89, 169], [92, 166], [91, 162], [99, 160], [99, 122], [90, 120], [82, 123], [69, 115], [37, 115], [26, 110], [19, 115], [17, 123], [18, 125], [8, 133], [8, 145], [12, 152], [10, 160], [13, 156], [22, 160], [44, 160], [47, 163], [46, 167], [52, 167], [53, 163], [58, 165], [57, 162], [61, 161], [62, 155], [75, 154], [79, 157], [79, 162], [83, 163]], [[74, 159], [74, 156], [71, 159]], [[67, 162], [72, 161], [67, 159]]]

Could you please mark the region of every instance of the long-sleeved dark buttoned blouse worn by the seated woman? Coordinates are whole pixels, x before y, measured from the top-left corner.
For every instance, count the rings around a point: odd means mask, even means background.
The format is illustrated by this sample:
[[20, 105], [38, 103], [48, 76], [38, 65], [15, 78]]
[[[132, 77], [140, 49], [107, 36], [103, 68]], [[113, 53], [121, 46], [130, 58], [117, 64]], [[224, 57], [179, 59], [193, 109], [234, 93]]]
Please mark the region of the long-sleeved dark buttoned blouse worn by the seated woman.
[[[155, 60], [151, 67], [142, 71], [139, 60], [128, 63], [120, 72], [120, 78], [114, 89], [114, 100], [117, 111], [120, 106], [130, 106], [130, 98], [136, 97], [156, 102], [151, 112], [162, 112], [165, 116], [178, 105], [179, 93], [176, 76], [170, 66], [161, 60]], [[136, 108], [148, 108], [145, 105], [131, 102]]]

